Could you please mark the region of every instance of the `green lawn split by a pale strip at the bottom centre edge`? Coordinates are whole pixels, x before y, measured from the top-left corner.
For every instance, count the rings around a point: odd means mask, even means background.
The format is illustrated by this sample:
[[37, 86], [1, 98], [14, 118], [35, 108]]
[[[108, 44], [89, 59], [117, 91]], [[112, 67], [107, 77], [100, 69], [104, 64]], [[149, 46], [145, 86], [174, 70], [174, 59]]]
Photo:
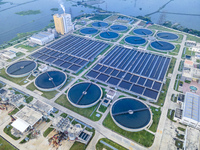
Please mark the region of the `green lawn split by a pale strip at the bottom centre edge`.
[[112, 150], [110, 147], [100, 143], [100, 141], [104, 141], [106, 142], [107, 144], [115, 147], [116, 149], [118, 150], [127, 150], [126, 148], [122, 147], [121, 145], [109, 140], [109, 139], [106, 139], [106, 138], [102, 138], [98, 141], [98, 143], [96, 144], [96, 150], [103, 150], [103, 148], [105, 148], [106, 150]]

